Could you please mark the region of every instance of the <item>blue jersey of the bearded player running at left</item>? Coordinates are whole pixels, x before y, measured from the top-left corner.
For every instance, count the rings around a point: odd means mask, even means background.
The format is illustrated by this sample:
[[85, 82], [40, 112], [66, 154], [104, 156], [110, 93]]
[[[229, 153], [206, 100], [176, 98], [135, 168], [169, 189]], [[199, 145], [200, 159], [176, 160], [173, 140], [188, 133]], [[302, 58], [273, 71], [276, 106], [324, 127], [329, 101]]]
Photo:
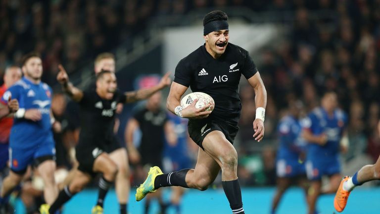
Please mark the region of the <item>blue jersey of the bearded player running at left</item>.
[[25, 108], [25, 110], [37, 108], [42, 114], [42, 119], [36, 122], [25, 118], [15, 118], [9, 136], [10, 146], [33, 147], [45, 142], [47, 138], [52, 139], [51, 88], [46, 83], [34, 84], [23, 77], [4, 93], [1, 102], [6, 104], [10, 95], [12, 99], [18, 100], [20, 108]]

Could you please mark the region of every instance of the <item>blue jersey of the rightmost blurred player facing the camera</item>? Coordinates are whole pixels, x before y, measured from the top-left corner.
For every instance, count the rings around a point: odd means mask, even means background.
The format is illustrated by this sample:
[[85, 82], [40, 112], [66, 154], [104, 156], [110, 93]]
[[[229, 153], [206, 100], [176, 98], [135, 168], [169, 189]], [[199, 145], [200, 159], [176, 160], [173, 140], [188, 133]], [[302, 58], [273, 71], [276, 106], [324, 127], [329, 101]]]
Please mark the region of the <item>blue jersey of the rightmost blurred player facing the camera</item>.
[[324, 146], [315, 143], [308, 144], [308, 159], [337, 158], [340, 149], [340, 139], [347, 125], [347, 116], [343, 110], [336, 108], [333, 116], [329, 117], [322, 107], [315, 108], [309, 113], [304, 128], [314, 135], [325, 133], [328, 141]]

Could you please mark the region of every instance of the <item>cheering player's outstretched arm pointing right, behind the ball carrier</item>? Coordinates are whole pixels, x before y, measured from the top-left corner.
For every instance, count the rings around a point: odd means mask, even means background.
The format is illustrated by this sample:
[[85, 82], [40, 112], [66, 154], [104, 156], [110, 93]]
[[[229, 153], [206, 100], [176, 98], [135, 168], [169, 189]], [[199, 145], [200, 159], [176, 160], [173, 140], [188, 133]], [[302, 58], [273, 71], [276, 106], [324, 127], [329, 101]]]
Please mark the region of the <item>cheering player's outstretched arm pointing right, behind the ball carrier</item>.
[[167, 72], [160, 80], [160, 82], [150, 88], [146, 89], [140, 89], [137, 91], [132, 92], [126, 92], [125, 96], [127, 97], [126, 103], [134, 103], [136, 101], [145, 100], [152, 96], [154, 93], [158, 92], [159, 90], [162, 90], [170, 85], [171, 79], [169, 77], [170, 72]]

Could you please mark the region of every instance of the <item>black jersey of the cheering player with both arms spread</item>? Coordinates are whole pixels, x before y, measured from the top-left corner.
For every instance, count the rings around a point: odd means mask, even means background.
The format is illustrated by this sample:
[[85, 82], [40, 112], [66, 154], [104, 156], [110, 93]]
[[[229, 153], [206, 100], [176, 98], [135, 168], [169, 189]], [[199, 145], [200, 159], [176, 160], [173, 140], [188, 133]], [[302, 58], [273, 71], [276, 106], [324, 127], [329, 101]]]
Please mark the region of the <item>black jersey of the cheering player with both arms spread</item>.
[[126, 96], [119, 90], [115, 92], [111, 100], [101, 99], [95, 90], [84, 91], [83, 98], [79, 102], [80, 141], [91, 140], [102, 143], [101, 141], [113, 140], [116, 105], [125, 101]]

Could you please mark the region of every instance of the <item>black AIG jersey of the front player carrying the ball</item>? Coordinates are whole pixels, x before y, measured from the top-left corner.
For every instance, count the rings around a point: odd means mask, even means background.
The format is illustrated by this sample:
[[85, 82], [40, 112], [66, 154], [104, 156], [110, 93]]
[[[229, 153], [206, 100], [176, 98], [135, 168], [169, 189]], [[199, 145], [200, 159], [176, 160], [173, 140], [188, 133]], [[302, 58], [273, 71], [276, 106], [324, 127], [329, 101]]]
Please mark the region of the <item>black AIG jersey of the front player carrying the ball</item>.
[[210, 118], [236, 125], [240, 117], [239, 81], [241, 74], [249, 79], [257, 68], [248, 52], [229, 43], [219, 58], [213, 58], [205, 45], [181, 59], [174, 82], [190, 86], [192, 92], [203, 92], [215, 101]]

